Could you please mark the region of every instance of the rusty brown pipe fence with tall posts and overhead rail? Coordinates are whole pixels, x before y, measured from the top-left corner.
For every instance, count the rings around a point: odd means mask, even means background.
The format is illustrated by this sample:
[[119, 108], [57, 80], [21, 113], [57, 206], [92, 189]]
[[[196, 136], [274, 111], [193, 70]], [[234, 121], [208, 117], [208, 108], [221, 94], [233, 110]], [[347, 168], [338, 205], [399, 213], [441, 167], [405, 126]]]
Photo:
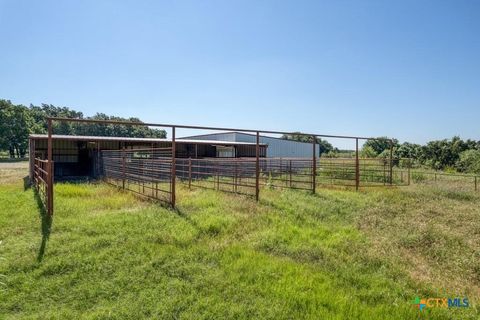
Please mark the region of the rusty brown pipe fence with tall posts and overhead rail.
[[[53, 167], [52, 161], [52, 130], [53, 123], [83, 123], [91, 125], [118, 125], [118, 126], [148, 126], [163, 127], [171, 129], [171, 148], [170, 150], [144, 150], [143, 153], [138, 150], [115, 150], [103, 151], [101, 161], [103, 162], [103, 174], [105, 180], [125, 190], [130, 190], [137, 194], [147, 196], [149, 198], [160, 199], [175, 207], [176, 203], [176, 181], [185, 182], [186, 175], [190, 174], [188, 183], [190, 187], [207, 186], [212, 187], [213, 180], [216, 179], [216, 188], [218, 190], [233, 191], [236, 193], [245, 193], [255, 195], [258, 201], [260, 196], [260, 186], [270, 185], [276, 187], [288, 187], [296, 189], [311, 190], [315, 193], [317, 179], [322, 178], [322, 171], [318, 171], [318, 157], [316, 152], [317, 138], [335, 138], [350, 139], [356, 143], [355, 151], [355, 188], [358, 190], [362, 182], [362, 174], [360, 171], [359, 159], [359, 141], [360, 140], [379, 140], [376, 138], [358, 137], [358, 136], [339, 136], [339, 135], [322, 135], [322, 134], [306, 134], [287, 131], [272, 130], [253, 130], [239, 128], [222, 128], [222, 127], [204, 127], [204, 126], [187, 126], [172, 125], [159, 123], [144, 123], [130, 121], [114, 121], [114, 120], [93, 120], [93, 119], [74, 119], [74, 118], [47, 118], [48, 128], [48, 151], [47, 161], [50, 163], [49, 169]], [[193, 130], [217, 130], [217, 131], [238, 131], [253, 133], [255, 139], [255, 157], [249, 159], [221, 160], [199, 160], [193, 159], [186, 163], [187, 160], [176, 158], [176, 129], [193, 129]], [[310, 159], [286, 159], [277, 158], [260, 158], [260, 134], [279, 134], [279, 135], [296, 135], [304, 136], [311, 139], [312, 157]], [[393, 141], [391, 139], [380, 139], [388, 141], [390, 144], [390, 157], [388, 159], [389, 184], [393, 184], [393, 166], [392, 152]], [[160, 152], [155, 155], [155, 152]], [[178, 161], [178, 166], [177, 166]], [[284, 162], [287, 161], [287, 162]], [[190, 164], [191, 163], [191, 164]], [[242, 164], [241, 168], [238, 168]], [[186, 166], [190, 166], [187, 170]], [[235, 169], [236, 168], [236, 169]], [[235, 170], [237, 170], [235, 172]], [[177, 177], [177, 171], [179, 176]], [[51, 171], [53, 173], [53, 171]], [[195, 177], [195, 179], [193, 178]], [[200, 177], [203, 177], [200, 179]], [[352, 181], [351, 173], [348, 173], [350, 181]], [[330, 175], [330, 179], [337, 179], [336, 175]], [[385, 179], [383, 180], [385, 181]], [[377, 181], [378, 183], [378, 181]], [[386, 184], [386, 182], [384, 183]], [[47, 203], [48, 212], [53, 214], [53, 174], [49, 175], [47, 182]]]

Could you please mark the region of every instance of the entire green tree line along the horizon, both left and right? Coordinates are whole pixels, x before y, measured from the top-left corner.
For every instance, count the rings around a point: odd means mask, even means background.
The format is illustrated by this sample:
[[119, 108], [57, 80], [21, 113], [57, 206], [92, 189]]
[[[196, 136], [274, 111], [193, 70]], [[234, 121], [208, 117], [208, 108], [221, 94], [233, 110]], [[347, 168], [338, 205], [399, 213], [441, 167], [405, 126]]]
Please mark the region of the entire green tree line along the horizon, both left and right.
[[[51, 104], [35, 106], [15, 105], [9, 100], [0, 99], [0, 150], [6, 150], [11, 158], [25, 157], [28, 149], [28, 136], [33, 133], [47, 132], [47, 117], [115, 120], [142, 123], [138, 118], [122, 118], [96, 113], [85, 117], [82, 112], [68, 107], [56, 107]], [[119, 136], [137, 138], [166, 138], [165, 130], [148, 126], [87, 124], [78, 122], [54, 122], [54, 134]], [[309, 142], [313, 137], [300, 133], [283, 135], [283, 139]], [[320, 154], [327, 157], [350, 155], [351, 151], [338, 150], [328, 141], [316, 138]], [[391, 142], [386, 137], [368, 140], [360, 153], [365, 158], [388, 158]], [[456, 170], [480, 174], [480, 141], [462, 140], [460, 137], [430, 141], [424, 145], [393, 139], [394, 159], [409, 158], [416, 164], [435, 170]]]

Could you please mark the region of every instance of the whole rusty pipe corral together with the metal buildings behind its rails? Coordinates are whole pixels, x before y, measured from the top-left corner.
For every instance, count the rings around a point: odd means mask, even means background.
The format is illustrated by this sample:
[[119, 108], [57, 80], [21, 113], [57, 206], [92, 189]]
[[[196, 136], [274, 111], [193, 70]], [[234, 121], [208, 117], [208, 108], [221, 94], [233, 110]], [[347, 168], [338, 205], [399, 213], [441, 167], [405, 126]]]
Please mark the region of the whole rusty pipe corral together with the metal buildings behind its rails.
[[[170, 128], [171, 138], [57, 136], [53, 122], [82, 125], [154, 126]], [[43, 190], [53, 213], [53, 181], [101, 178], [122, 189], [175, 206], [175, 184], [246, 194], [259, 199], [262, 186], [315, 193], [318, 186], [393, 186], [408, 183], [393, 170], [392, 150], [385, 159], [361, 159], [365, 137], [326, 136], [132, 122], [48, 119], [48, 135], [30, 137], [30, 177]], [[210, 130], [209, 135], [176, 137], [175, 130]], [[219, 133], [221, 131], [222, 133]], [[305, 136], [311, 142], [285, 140], [279, 134]], [[317, 138], [355, 142], [353, 158], [323, 158]], [[409, 175], [408, 175], [409, 176]]]

